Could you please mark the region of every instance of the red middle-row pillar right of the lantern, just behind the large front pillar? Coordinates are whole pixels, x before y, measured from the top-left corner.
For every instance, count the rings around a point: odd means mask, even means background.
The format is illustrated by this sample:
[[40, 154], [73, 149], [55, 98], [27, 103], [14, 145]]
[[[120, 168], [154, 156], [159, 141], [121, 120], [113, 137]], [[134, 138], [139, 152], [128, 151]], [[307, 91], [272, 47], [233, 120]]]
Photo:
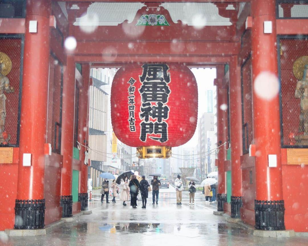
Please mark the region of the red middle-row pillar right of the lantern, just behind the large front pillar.
[[237, 56], [229, 63], [229, 107], [230, 107], [230, 144], [231, 144], [231, 217], [241, 218], [242, 206], [242, 99], [241, 68], [237, 66]]

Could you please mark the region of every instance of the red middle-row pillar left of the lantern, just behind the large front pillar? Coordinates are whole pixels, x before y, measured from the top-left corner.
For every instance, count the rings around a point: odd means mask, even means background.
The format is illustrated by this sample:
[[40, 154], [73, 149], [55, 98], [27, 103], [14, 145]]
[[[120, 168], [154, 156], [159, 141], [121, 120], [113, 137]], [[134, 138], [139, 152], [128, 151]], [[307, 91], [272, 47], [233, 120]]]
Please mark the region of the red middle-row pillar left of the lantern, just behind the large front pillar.
[[62, 217], [73, 216], [72, 205], [72, 175], [73, 175], [73, 147], [74, 147], [74, 112], [75, 112], [75, 61], [72, 55], [67, 55], [63, 75], [62, 95], [62, 129], [61, 154], [63, 167], [61, 175]]

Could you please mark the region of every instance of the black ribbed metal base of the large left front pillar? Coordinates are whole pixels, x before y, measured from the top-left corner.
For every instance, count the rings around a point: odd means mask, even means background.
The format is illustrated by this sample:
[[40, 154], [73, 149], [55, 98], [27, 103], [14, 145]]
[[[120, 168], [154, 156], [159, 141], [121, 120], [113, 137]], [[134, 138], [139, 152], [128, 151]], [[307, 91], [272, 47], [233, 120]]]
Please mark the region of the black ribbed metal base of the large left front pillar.
[[15, 229], [42, 229], [45, 220], [45, 199], [15, 200]]

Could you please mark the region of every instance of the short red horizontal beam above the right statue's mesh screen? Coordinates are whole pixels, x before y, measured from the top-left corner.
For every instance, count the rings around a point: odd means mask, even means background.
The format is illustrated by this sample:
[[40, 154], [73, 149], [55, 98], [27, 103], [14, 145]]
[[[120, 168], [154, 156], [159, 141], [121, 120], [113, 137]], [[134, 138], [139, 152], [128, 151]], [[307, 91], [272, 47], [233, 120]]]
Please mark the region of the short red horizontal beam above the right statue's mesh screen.
[[308, 19], [277, 19], [277, 34], [308, 34]]

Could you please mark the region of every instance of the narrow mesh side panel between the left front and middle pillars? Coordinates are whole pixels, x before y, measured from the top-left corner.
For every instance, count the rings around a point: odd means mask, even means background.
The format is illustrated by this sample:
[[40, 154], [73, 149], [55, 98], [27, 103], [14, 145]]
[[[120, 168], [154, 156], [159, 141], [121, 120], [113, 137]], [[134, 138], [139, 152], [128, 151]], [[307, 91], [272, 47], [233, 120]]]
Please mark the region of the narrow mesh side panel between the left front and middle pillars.
[[52, 152], [61, 152], [63, 66], [53, 56], [49, 64], [47, 143]]

